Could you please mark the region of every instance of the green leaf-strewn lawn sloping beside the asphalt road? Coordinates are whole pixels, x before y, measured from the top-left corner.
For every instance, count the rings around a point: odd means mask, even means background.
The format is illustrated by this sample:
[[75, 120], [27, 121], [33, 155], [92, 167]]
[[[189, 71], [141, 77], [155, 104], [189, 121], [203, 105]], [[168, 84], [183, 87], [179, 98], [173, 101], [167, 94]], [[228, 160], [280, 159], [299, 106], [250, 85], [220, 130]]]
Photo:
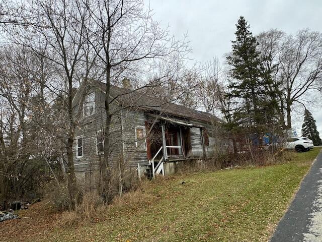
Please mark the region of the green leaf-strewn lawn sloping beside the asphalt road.
[[[288, 163], [148, 182], [155, 200], [105, 221], [57, 228], [43, 241], [267, 241], [320, 148]], [[185, 181], [185, 184], [182, 184]]]

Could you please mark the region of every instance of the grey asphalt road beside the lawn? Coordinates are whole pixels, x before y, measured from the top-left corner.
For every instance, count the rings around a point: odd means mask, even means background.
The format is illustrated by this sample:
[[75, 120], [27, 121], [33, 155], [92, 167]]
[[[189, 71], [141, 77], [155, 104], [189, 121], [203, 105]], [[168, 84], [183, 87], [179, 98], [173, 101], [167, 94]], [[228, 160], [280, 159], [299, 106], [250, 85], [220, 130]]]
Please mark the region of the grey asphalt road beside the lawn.
[[322, 242], [322, 153], [303, 179], [271, 242]]

